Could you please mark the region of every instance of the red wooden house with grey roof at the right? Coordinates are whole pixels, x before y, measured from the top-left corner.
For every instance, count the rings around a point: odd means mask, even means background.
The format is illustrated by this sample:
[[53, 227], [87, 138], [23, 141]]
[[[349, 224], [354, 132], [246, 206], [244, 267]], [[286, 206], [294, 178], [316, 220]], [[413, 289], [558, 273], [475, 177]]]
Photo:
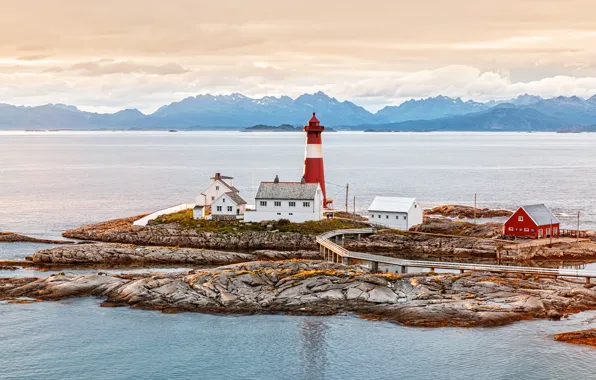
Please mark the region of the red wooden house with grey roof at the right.
[[544, 205], [522, 206], [505, 222], [503, 235], [540, 239], [559, 236], [559, 219]]

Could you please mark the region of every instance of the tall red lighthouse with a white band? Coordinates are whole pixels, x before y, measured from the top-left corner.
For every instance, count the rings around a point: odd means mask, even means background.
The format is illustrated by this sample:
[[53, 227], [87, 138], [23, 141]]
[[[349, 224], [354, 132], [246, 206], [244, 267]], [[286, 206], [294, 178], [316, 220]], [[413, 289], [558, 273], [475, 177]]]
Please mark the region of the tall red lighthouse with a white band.
[[304, 151], [304, 182], [318, 183], [323, 190], [323, 207], [327, 207], [327, 193], [325, 192], [325, 168], [323, 166], [323, 144], [321, 134], [325, 130], [319, 119], [312, 113], [306, 132], [306, 149]]

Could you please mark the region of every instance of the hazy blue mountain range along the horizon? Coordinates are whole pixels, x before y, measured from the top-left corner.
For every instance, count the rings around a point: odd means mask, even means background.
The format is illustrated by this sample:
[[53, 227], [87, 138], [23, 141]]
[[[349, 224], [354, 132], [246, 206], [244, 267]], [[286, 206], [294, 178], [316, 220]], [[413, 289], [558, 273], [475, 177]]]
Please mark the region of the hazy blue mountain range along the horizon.
[[376, 113], [323, 92], [260, 99], [242, 94], [198, 95], [146, 115], [136, 109], [113, 114], [65, 104], [27, 107], [0, 104], [0, 129], [243, 129], [256, 124], [303, 125], [312, 112], [337, 130], [558, 131], [596, 125], [596, 95], [544, 99], [521, 95], [508, 101], [476, 102], [437, 96], [387, 106]]

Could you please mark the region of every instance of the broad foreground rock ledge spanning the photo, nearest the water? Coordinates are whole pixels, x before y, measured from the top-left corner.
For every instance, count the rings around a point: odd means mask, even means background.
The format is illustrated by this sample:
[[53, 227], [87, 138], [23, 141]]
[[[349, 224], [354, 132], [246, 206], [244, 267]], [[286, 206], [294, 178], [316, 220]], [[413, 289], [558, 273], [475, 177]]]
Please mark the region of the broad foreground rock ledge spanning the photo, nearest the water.
[[0, 297], [100, 296], [106, 306], [211, 313], [352, 312], [411, 326], [492, 326], [596, 308], [596, 290], [473, 273], [372, 274], [315, 261], [248, 262], [187, 274], [65, 276], [0, 283]]

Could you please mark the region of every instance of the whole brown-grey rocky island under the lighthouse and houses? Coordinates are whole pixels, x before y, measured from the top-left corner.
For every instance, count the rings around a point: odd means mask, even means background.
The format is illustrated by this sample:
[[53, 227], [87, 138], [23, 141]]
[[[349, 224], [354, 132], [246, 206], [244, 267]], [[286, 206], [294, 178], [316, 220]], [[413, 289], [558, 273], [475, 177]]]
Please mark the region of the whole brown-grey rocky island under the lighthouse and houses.
[[[596, 291], [576, 280], [467, 272], [372, 273], [323, 262], [315, 237], [368, 226], [362, 217], [317, 222], [239, 223], [192, 219], [190, 210], [135, 226], [141, 216], [82, 226], [68, 238], [92, 240], [36, 252], [40, 267], [192, 265], [185, 273], [51, 275], [0, 280], [0, 298], [53, 300], [94, 296], [103, 306], [164, 312], [354, 313], [410, 326], [494, 326], [558, 319], [596, 307]], [[346, 240], [349, 250], [417, 259], [491, 259], [500, 223], [427, 220], [412, 231], [383, 230]]]

